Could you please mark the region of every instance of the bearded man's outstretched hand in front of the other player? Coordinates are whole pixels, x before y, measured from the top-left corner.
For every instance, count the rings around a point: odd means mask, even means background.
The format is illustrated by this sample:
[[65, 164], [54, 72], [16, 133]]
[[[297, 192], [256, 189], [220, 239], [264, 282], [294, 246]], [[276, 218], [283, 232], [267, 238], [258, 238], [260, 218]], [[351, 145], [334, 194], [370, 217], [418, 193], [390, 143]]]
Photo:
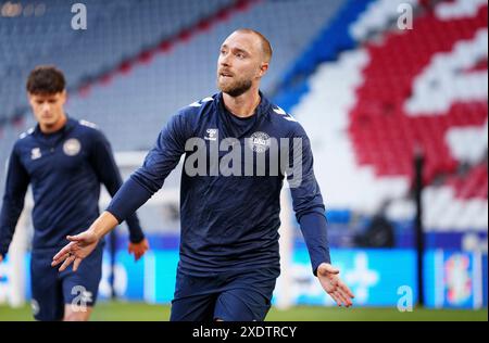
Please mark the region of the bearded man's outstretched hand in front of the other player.
[[63, 271], [73, 263], [73, 271], [76, 271], [82, 261], [96, 249], [99, 238], [95, 232], [87, 230], [76, 236], [68, 236], [66, 239], [71, 242], [54, 255], [51, 266], [63, 263], [59, 269]]

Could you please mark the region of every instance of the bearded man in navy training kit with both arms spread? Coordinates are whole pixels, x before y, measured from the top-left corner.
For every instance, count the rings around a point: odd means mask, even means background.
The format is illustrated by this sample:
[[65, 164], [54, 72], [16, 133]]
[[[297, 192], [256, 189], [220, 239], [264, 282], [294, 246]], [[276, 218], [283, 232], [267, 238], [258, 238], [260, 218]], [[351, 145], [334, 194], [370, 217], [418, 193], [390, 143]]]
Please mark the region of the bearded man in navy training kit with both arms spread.
[[[280, 271], [279, 194], [283, 161], [288, 161], [293, 209], [313, 272], [339, 306], [352, 305], [353, 294], [330, 265], [325, 207], [308, 136], [259, 90], [271, 56], [269, 42], [260, 33], [233, 33], [218, 58], [221, 92], [171, 117], [142, 167], [86, 232], [70, 238], [52, 265], [63, 262], [64, 270], [74, 263], [77, 268], [89, 258], [97, 242], [150, 199], [185, 154], [180, 258], [171, 320], [263, 320]], [[286, 143], [274, 155], [272, 142], [280, 139]], [[239, 151], [234, 160], [233, 149]], [[266, 160], [261, 174], [258, 166], [250, 168], [247, 154], [253, 163]], [[274, 174], [277, 155], [280, 173]], [[292, 163], [296, 156], [299, 164]]]

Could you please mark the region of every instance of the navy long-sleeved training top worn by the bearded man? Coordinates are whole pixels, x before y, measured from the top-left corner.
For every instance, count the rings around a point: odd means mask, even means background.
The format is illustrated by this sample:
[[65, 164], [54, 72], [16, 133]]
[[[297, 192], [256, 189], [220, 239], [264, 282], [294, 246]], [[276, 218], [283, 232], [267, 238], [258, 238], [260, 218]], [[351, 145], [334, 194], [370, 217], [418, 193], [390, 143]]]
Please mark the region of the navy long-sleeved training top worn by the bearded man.
[[[254, 115], [244, 119], [225, 109], [222, 93], [181, 109], [170, 118], [143, 165], [123, 185], [108, 207], [120, 221], [124, 220], [163, 186], [185, 154], [178, 263], [183, 274], [203, 276], [260, 267], [279, 270], [276, 268], [279, 267], [279, 200], [285, 175], [296, 185], [291, 187], [292, 204], [313, 272], [316, 274], [321, 263], [330, 263], [325, 207], [313, 172], [310, 140], [292, 116], [260, 94], [261, 103]], [[278, 143], [278, 153], [273, 154], [271, 141], [280, 142], [280, 138], [289, 141], [284, 149]], [[222, 145], [225, 139], [227, 149], [212, 153], [211, 147]], [[242, 158], [229, 158], [235, 148], [240, 148], [235, 155]], [[251, 153], [254, 162], [265, 157], [262, 175], [255, 165], [247, 174], [250, 167], [244, 165], [247, 153]], [[293, 156], [301, 154], [300, 163], [292, 164]], [[280, 166], [289, 167], [287, 173], [281, 168], [273, 173], [271, 166], [277, 155]], [[222, 170], [223, 165], [237, 168], [229, 175]], [[200, 168], [196, 172], [192, 166]], [[300, 178], [294, 177], [298, 173]]]

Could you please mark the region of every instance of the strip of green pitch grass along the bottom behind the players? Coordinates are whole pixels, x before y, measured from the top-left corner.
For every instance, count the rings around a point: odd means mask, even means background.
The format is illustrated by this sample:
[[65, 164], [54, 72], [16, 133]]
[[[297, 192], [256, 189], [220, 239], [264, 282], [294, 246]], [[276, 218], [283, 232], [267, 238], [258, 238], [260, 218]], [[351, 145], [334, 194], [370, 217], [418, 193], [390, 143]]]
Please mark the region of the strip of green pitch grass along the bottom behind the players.
[[[143, 303], [105, 302], [93, 310], [95, 321], [165, 321], [170, 318], [168, 305]], [[30, 307], [10, 308], [0, 306], [0, 321], [30, 321]], [[424, 309], [414, 308], [412, 313], [400, 313], [396, 308], [334, 308], [298, 306], [287, 310], [272, 308], [267, 321], [487, 321], [488, 312]]]

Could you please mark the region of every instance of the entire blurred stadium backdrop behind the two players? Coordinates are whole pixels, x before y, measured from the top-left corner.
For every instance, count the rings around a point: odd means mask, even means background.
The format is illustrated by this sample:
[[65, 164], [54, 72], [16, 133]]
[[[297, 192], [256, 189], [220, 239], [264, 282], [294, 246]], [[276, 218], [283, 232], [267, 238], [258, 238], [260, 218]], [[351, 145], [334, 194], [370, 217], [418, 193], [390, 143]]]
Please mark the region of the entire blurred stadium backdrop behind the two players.
[[[330, 312], [285, 195], [271, 318], [487, 320], [487, 0], [84, 0], [86, 29], [75, 29], [75, 3], [0, 1], [2, 192], [13, 143], [35, 125], [25, 81], [36, 65], [65, 73], [68, 115], [100, 127], [127, 178], [173, 113], [217, 92], [222, 41], [253, 28], [274, 48], [262, 91], [311, 138], [333, 262], [356, 294], [354, 309]], [[138, 212], [152, 247], [141, 262], [126, 252], [124, 225], [109, 238], [109, 317], [96, 318], [166, 318], [130, 306], [167, 313], [180, 169]], [[2, 320], [30, 318], [30, 208], [0, 265]], [[396, 317], [410, 298], [424, 317]], [[116, 306], [128, 317], [110, 317]]]

